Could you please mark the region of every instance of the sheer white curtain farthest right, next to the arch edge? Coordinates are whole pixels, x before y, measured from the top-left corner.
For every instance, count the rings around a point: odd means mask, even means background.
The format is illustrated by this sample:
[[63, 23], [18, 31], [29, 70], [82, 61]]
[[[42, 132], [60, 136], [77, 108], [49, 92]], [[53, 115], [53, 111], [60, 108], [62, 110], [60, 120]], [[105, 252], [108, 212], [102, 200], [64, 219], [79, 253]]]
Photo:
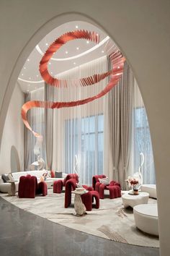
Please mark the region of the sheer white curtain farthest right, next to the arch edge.
[[138, 172], [141, 165], [141, 155], [144, 155], [142, 166], [142, 176], [144, 184], [155, 184], [155, 170], [153, 163], [153, 151], [151, 144], [151, 135], [148, 125], [146, 108], [143, 103], [138, 84], [135, 81], [133, 88], [133, 108], [132, 108], [132, 144], [130, 154], [129, 174], [133, 176]]

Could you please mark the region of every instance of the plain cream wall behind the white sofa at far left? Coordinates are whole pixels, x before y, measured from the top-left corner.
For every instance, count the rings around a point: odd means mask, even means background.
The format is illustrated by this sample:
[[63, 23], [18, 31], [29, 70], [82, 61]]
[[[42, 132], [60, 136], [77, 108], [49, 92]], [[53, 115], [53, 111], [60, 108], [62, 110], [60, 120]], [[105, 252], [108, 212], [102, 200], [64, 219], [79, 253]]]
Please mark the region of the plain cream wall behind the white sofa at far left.
[[11, 148], [17, 149], [21, 170], [24, 170], [24, 124], [21, 118], [21, 108], [24, 103], [24, 93], [16, 85], [6, 115], [4, 131], [1, 140], [0, 174], [11, 171]]

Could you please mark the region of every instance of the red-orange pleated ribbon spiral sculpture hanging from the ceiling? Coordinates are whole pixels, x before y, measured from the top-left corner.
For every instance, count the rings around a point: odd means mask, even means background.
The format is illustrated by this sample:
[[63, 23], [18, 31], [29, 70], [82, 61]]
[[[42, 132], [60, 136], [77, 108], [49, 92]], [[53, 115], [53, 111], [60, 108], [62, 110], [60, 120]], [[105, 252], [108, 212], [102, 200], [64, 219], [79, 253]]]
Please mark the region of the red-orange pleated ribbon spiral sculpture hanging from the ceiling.
[[[67, 88], [68, 81], [67, 80], [59, 80], [55, 77], [52, 77], [50, 73], [48, 72], [48, 61], [50, 61], [50, 58], [55, 54], [56, 51], [59, 50], [65, 43], [68, 43], [70, 40], [75, 39], [86, 39], [91, 40], [94, 43], [99, 43], [99, 35], [95, 32], [89, 32], [86, 30], [76, 30], [72, 32], [68, 32], [66, 34], [61, 35], [61, 37], [57, 38], [48, 48], [48, 50], [45, 52], [44, 56], [42, 56], [42, 59], [40, 61], [40, 74], [42, 76], [42, 79], [51, 86], [61, 88], [64, 86]], [[25, 126], [27, 129], [30, 129], [30, 131], [35, 135], [35, 137], [39, 137], [40, 135], [33, 131], [30, 127], [30, 124], [27, 121], [27, 111], [29, 111], [31, 108], [67, 108], [67, 107], [74, 107], [83, 105], [86, 103], [89, 103], [91, 101], [96, 100], [97, 98], [101, 98], [105, 94], [109, 92], [120, 80], [120, 77], [122, 76], [123, 67], [125, 58], [122, 56], [120, 51], [114, 51], [112, 54], [109, 54], [109, 60], [112, 65], [112, 69], [108, 72], [104, 72], [103, 74], [93, 74], [90, 77], [82, 77], [78, 80], [73, 80], [73, 85], [77, 84], [79, 82], [79, 85], [81, 86], [90, 86], [94, 85], [97, 82], [100, 82], [101, 80], [104, 80], [104, 78], [110, 76], [109, 83], [106, 85], [106, 87], [99, 92], [97, 95], [94, 95], [89, 98], [84, 98], [78, 101], [69, 101], [69, 102], [51, 102], [51, 101], [28, 101], [27, 103], [24, 103], [22, 106], [22, 120], [24, 121]]]

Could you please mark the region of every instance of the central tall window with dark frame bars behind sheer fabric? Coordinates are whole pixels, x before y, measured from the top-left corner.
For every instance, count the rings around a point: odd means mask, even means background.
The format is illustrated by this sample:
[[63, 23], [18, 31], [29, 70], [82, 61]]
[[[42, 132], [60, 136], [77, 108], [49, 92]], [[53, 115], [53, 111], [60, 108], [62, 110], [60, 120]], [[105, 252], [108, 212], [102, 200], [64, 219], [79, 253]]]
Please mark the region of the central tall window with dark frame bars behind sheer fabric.
[[66, 120], [65, 127], [66, 171], [75, 171], [77, 156], [80, 181], [91, 184], [93, 175], [103, 173], [103, 114]]

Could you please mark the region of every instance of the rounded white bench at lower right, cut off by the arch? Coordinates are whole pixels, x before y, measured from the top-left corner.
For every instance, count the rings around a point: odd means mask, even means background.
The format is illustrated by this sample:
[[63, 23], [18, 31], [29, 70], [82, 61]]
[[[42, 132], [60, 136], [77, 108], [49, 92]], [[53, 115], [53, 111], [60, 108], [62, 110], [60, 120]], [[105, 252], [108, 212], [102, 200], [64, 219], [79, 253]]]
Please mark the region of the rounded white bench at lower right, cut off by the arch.
[[158, 236], [157, 204], [135, 205], [133, 208], [135, 226], [143, 232]]

